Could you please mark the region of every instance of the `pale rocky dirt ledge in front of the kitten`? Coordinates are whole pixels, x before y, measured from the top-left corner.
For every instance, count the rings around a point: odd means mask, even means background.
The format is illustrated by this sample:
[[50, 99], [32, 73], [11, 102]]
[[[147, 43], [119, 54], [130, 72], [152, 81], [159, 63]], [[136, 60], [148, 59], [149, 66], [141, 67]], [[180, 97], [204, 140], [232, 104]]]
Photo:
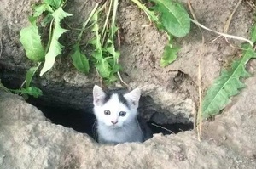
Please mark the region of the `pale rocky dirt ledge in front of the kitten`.
[[[237, 132], [242, 132], [242, 128]], [[232, 135], [236, 134], [233, 131]], [[219, 139], [222, 138], [199, 142], [195, 132], [190, 131], [168, 136], [155, 134], [144, 143], [97, 144], [87, 134], [51, 123], [19, 96], [0, 91], [2, 168], [256, 167], [255, 160], [232, 149], [236, 144], [219, 145]]]

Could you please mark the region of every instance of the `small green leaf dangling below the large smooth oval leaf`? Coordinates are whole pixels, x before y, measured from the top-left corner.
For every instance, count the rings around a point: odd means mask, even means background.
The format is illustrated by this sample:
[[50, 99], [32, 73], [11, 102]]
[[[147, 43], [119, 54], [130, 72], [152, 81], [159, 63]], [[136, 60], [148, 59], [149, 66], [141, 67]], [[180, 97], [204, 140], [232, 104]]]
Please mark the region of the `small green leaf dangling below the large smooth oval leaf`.
[[160, 65], [165, 67], [166, 65], [170, 65], [174, 60], [177, 59], [177, 52], [179, 48], [172, 48], [171, 44], [167, 44], [165, 47], [164, 54], [160, 60]]

